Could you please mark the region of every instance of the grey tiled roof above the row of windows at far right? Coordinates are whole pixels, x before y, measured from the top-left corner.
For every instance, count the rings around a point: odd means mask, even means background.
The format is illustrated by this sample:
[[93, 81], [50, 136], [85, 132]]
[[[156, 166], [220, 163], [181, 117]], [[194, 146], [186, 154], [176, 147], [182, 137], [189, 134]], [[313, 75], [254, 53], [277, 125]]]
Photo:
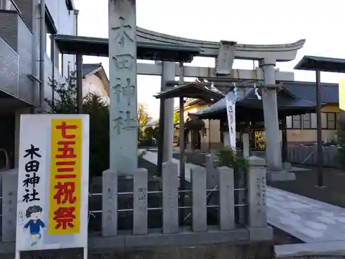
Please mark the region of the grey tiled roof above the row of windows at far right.
[[[284, 81], [283, 86], [300, 99], [316, 102], [316, 83], [306, 81]], [[321, 102], [337, 104], [339, 102], [338, 84], [321, 83]]]

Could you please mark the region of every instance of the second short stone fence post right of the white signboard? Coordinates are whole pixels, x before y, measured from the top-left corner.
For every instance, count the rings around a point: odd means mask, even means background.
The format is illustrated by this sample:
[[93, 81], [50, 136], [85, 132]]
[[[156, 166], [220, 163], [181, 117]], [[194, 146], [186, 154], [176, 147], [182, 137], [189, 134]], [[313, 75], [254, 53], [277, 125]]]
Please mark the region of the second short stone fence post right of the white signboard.
[[133, 183], [133, 235], [148, 233], [148, 170], [137, 169]]

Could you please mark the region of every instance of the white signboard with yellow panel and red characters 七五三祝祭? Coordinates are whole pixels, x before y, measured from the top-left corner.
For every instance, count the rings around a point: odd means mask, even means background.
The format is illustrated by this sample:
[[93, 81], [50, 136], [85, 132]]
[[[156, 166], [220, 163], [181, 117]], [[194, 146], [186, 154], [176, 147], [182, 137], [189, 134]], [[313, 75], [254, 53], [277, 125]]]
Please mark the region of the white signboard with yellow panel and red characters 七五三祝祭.
[[21, 115], [16, 253], [87, 248], [88, 115]]

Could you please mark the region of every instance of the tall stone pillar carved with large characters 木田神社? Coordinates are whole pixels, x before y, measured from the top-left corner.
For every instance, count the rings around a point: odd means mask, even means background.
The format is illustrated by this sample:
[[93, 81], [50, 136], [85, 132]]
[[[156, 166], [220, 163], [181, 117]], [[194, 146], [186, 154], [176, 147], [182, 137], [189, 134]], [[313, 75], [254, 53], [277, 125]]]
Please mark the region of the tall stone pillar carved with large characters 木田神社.
[[110, 171], [137, 169], [136, 1], [109, 0]]

